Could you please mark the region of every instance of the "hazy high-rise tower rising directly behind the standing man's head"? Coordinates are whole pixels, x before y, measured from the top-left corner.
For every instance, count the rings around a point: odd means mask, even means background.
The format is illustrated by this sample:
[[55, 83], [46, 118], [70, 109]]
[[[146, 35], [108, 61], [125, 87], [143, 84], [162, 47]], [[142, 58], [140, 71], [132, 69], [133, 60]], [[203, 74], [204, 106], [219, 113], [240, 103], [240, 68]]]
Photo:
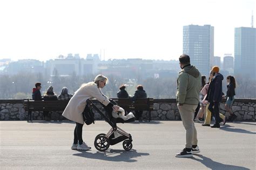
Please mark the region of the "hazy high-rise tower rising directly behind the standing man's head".
[[183, 53], [201, 74], [208, 75], [213, 66], [214, 27], [211, 25], [183, 26]]

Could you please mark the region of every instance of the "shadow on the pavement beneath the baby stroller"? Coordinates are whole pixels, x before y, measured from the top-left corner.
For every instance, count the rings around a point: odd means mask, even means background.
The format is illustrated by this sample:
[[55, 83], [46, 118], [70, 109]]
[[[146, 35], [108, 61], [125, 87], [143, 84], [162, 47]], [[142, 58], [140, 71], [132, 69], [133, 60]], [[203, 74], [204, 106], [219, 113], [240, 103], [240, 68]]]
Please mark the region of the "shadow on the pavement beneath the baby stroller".
[[135, 149], [124, 151], [120, 149], [109, 149], [105, 152], [91, 153], [88, 151], [79, 151], [80, 153], [73, 154], [74, 156], [84, 157], [89, 159], [100, 159], [114, 162], [136, 162], [137, 157], [147, 156], [149, 153], [138, 153]]

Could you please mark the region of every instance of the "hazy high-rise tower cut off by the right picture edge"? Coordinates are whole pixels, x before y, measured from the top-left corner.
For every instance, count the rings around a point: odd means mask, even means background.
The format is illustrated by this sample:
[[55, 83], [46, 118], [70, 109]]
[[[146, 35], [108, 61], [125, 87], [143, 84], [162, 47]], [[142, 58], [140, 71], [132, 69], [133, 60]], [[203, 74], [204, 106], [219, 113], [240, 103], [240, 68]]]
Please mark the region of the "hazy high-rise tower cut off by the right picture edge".
[[256, 79], [256, 28], [235, 28], [234, 74]]

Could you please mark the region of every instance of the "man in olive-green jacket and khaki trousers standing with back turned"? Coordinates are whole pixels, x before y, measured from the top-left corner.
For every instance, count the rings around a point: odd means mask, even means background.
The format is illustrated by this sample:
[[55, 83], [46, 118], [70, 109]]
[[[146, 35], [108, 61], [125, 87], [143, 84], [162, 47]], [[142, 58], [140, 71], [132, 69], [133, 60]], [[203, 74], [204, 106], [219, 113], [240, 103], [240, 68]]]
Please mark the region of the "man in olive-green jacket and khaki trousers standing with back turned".
[[194, 111], [199, 102], [201, 86], [201, 74], [195, 66], [190, 65], [190, 57], [179, 57], [180, 68], [177, 79], [177, 105], [181, 120], [186, 130], [186, 147], [176, 157], [193, 157], [193, 153], [199, 153], [197, 146], [197, 130], [194, 126]]

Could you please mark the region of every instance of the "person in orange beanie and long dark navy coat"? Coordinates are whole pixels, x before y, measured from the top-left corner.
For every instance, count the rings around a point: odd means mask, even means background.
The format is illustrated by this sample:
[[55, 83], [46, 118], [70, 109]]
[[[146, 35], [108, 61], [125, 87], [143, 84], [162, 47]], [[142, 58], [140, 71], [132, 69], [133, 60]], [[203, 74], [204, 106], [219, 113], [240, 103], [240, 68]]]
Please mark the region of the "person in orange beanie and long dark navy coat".
[[209, 85], [206, 100], [208, 100], [210, 103], [208, 106], [208, 110], [211, 111], [215, 117], [215, 124], [211, 127], [219, 128], [220, 127], [219, 105], [223, 96], [223, 91], [222, 91], [223, 75], [219, 73], [218, 66], [213, 66], [212, 71], [215, 73], [215, 76], [213, 77]]

